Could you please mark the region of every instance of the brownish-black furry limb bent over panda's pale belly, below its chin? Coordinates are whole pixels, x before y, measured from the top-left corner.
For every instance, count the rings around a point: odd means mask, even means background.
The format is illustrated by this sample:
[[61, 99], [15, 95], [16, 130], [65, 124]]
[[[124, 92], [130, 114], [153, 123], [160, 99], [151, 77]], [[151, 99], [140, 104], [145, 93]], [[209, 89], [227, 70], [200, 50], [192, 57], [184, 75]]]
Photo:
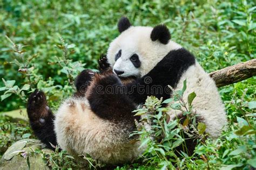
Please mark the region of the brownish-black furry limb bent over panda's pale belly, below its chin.
[[119, 77], [113, 73], [96, 75], [93, 79], [93, 86], [89, 87], [86, 93], [91, 110], [99, 117], [117, 122], [134, 123], [132, 111], [136, 110], [136, 105], [124, 93], [123, 86]]

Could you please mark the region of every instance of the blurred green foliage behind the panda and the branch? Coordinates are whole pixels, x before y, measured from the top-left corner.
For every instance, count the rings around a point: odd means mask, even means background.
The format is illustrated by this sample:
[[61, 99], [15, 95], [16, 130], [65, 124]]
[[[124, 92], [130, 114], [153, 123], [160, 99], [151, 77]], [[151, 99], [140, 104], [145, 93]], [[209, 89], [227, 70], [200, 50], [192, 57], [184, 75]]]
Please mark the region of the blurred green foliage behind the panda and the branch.
[[[12, 95], [1, 101], [0, 111], [24, 108], [26, 96], [36, 87], [46, 91], [50, 104], [57, 107], [60, 100], [72, 94], [73, 77], [82, 67], [97, 68], [100, 54], [106, 53], [111, 40], [119, 35], [117, 22], [122, 16], [127, 16], [133, 25], [167, 25], [172, 40], [191, 51], [208, 73], [255, 59], [255, 5], [255, 1], [239, 0], [2, 0], [0, 77], [4, 80], [15, 80], [15, 86], [20, 89], [25, 84], [29, 84], [30, 87], [21, 90], [23, 94], [17, 90], [9, 91], [8, 93]], [[29, 75], [18, 72], [19, 68], [23, 68], [22, 65], [11, 63], [14, 59], [23, 62], [16, 52], [10, 52], [12, 44], [5, 36], [15, 44], [25, 46], [22, 48], [24, 58], [35, 55], [35, 59], [28, 64], [28, 68], [32, 67]], [[59, 37], [62, 37], [66, 44], [75, 45], [68, 48], [67, 63], [64, 63], [66, 68], [59, 65], [58, 62], [62, 61], [56, 58], [63, 57], [65, 53], [65, 44], [62, 44]], [[74, 63], [79, 63], [79, 67], [72, 67]], [[67, 71], [69, 69], [72, 70], [71, 73]], [[32, 83], [29, 83], [30, 81]], [[252, 77], [219, 89], [226, 105], [230, 125], [237, 122], [237, 116], [244, 117], [253, 113], [254, 107], [249, 109], [248, 104], [253, 105], [252, 101], [255, 101], [255, 84], [255, 77]], [[5, 85], [0, 81], [0, 87]], [[4, 95], [5, 91], [6, 89], [0, 91], [0, 95]], [[249, 122], [253, 120], [253, 117], [250, 117]], [[1, 123], [7, 121], [9, 119], [2, 118]], [[28, 133], [27, 128], [24, 133]], [[17, 138], [10, 139], [6, 146], [14, 140]], [[230, 147], [230, 150], [232, 149], [234, 148]]]

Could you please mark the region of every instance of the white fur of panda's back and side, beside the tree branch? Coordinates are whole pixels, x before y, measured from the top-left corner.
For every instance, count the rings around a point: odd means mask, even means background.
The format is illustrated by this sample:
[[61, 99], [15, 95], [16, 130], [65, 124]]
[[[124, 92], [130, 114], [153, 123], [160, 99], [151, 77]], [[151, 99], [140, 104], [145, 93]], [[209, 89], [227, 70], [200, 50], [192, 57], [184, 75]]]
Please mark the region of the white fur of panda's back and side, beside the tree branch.
[[[225, 128], [227, 118], [215, 82], [198, 62], [186, 70], [174, 90], [181, 90], [185, 79], [187, 89], [183, 96], [184, 101], [187, 102], [187, 96], [193, 91], [196, 93], [197, 96], [192, 102], [193, 109], [198, 116], [203, 118], [202, 122], [206, 124], [206, 132], [211, 137], [217, 138], [221, 130]], [[180, 113], [175, 110], [169, 112], [171, 118], [178, 114]]]

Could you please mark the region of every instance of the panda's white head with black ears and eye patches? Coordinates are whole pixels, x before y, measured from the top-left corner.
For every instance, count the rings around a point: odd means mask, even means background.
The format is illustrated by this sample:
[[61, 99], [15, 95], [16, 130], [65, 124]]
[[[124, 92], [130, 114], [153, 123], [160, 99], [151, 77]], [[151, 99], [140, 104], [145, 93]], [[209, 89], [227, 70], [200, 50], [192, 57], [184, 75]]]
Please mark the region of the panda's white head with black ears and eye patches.
[[171, 41], [165, 25], [155, 27], [132, 26], [123, 17], [118, 22], [120, 35], [107, 51], [107, 61], [120, 77], [142, 77], [173, 49], [181, 48]]

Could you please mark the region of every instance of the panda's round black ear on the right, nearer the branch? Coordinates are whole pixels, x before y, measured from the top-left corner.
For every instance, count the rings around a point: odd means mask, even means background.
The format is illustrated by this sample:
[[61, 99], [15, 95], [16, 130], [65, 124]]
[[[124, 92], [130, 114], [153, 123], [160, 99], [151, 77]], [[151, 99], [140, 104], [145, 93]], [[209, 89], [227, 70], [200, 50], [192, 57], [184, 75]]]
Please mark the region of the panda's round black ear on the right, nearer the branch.
[[150, 38], [152, 41], [159, 40], [163, 44], [167, 44], [171, 39], [171, 33], [165, 25], [157, 25], [153, 28]]

